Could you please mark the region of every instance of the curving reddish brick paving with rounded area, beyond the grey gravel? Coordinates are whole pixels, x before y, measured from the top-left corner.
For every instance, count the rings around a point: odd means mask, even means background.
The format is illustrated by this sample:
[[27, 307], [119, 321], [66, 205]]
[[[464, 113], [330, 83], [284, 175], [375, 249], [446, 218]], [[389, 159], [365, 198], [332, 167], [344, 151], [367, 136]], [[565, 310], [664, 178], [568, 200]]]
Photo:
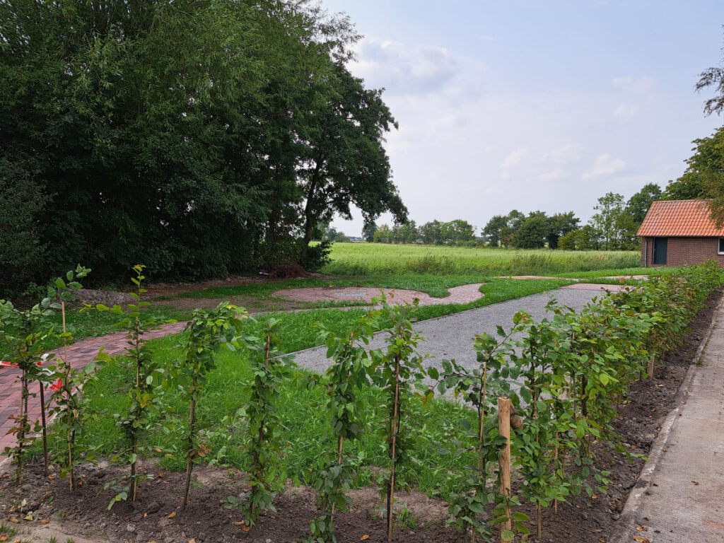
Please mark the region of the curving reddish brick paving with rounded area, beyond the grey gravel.
[[470, 303], [484, 296], [480, 292], [482, 283], [463, 285], [450, 288], [450, 295], [445, 298], [434, 298], [425, 292], [417, 290], [402, 290], [394, 288], [374, 287], [311, 287], [287, 288], [274, 292], [276, 296], [290, 298], [300, 302], [371, 302], [372, 298], [379, 298], [380, 291], [384, 292], [390, 303], [411, 303], [415, 298], [420, 300], [421, 306], [435, 306], [440, 303]]

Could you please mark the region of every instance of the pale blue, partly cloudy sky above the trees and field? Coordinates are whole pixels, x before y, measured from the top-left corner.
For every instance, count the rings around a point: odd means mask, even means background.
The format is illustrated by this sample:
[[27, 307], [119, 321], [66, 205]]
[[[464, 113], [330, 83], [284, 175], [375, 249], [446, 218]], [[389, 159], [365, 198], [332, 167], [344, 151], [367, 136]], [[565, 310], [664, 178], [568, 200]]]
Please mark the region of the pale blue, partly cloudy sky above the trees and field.
[[[418, 224], [575, 211], [679, 177], [720, 64], [722, 0], [321, 0], [364, 37], [350, 70], [400, 124], [393, 181]], [[391, 223], [382, 216], [377, 223]], [[361, 235], [361, 214], [332, 225]]]

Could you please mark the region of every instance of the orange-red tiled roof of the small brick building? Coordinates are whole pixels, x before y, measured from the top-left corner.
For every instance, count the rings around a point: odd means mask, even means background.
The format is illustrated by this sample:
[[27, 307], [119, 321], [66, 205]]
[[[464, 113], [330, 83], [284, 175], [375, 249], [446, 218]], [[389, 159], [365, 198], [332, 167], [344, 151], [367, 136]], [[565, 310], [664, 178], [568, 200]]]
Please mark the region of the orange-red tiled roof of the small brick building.
[[651, 204], [639, 237], [724, 237], [705, 200], [656, 201]]

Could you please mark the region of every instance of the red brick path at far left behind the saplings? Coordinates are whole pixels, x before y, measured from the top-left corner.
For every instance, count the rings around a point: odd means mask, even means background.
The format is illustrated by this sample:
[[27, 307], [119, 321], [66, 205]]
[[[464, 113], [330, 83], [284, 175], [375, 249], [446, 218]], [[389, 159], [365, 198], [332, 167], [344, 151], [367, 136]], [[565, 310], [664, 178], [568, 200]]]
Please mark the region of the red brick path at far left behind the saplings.
[[[181, 332], [185, 326], [185, 322], [164, 324], [164, 326], [158, 329], [147, 332], [145, 337], [148, 340], [152, 340], [168, 334], [177, 334]], [[79, 341], [68, 347], [68, 359], [74, 368], [83, 368], [85, 364], [92, 361], [93, 358], [96, 358], [98, 349], [101, 347], [105, 347], [109, 355], [118, 355], [125, 350], [127, 346], [126, 341], [125, 332]], [[54, 353], [56, 353], [56, 355], [61, 354], [60, 350], [56, 350]], [[10, 417], [20, 411], [19, 375], [19, 369], [0, 369], [0, 451], [5, 447], [12, 447], [15, 443], [14, 435], [7, 434], [7, 431], [15, 425], [15, 422]], [[29, 420], [30, 424], [33, 424], [33, 421], [39, 419], [41, 416], [40, 395], [38, 394], [37, 383], [31, 385], [30, 392], [36, 395], [36, 397], [30, 397], [28, 400]], [[47, 404], [52, 393], [46, 389], [45, 395]]]

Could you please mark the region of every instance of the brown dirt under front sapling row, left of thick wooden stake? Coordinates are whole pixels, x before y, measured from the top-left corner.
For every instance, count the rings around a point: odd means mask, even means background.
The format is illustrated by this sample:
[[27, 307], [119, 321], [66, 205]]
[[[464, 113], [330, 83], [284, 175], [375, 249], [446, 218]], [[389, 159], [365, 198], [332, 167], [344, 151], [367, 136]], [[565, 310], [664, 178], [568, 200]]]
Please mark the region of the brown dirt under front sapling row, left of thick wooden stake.
[[[195, 484], [185, 511], [179, 508], [184, 474], [158, 471], [155, 479], [140, 484], [135, 503], [120, 502], [109, 511], [106, 506], [112, 492], [103, 486], [118, 474], [116, 468], [108, 466], [85, 466], [81, 472], [83, 486], [70, 495], [66, 481], [45, 480], [41, 466], [36, 463], [28, 466], [22, 487], [15, 487], [8, 475], [0, 481], [0, 510], [10, 523], [20, 521], [20, 527], [34, 529], [44, 537], [59, 534], [59, 541], [83, 537], [93, 542], [114, 543], [186, 543], [191, 539], [196, 543], [303, 542], [308, 536], [309, 521], [319, 513], [311, 489], [289, 487], [275, 500], [277, 513], [264, 513], [256, 526], [244, 532], [243, 526], [237, 524], [242, 518], [240, 512], [225, 509], [221, 503], [229, 495], [245, 496], [248, 487], [242, 474], [209, 466], [195, 471]], [[365, 535], [369, 542], [384, 541], [384, 504], [379, 492], [358, 489], [352, 497], [353, 508], [337, 513], [337, 541], [359, 542], [365, 540]], [[463, 542], [463, 536], [445, 527], [445, 503], [419, 492], [400, 492], [398, 499], [400, 507], [403, 503], [408, 506], [418, 526], [398, 527], [397, 541]], [[25, 508], [13, 510], [13, 505], [22, 500], [27, 502]], [[22, 520], [30, 511], [33, 521]]]

